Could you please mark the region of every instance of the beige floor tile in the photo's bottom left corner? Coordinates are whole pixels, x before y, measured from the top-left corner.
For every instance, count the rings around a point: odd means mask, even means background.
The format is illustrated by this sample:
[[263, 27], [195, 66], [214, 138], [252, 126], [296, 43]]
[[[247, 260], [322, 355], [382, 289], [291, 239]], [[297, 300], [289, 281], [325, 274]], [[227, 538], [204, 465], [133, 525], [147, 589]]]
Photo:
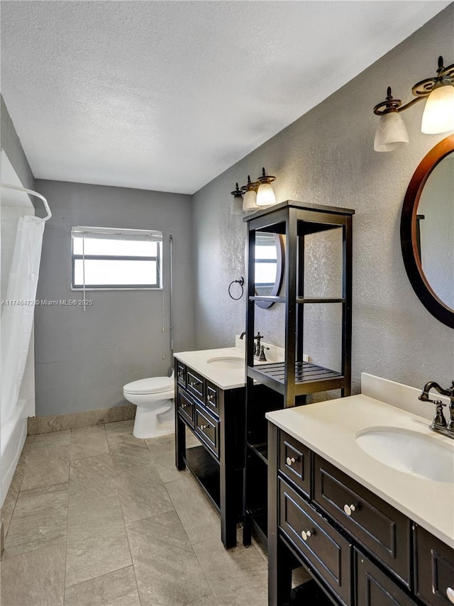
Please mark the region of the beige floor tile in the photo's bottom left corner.
[[1, 606], [62, 606], [65, 591], [64, 543], [1, 563]]

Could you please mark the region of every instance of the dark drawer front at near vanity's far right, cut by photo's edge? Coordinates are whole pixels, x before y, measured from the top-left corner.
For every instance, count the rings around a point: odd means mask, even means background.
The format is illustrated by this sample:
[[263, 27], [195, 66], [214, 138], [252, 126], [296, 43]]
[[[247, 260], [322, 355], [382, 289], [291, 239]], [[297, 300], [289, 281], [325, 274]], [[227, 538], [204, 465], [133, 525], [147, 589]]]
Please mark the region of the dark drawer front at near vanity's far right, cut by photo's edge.
[[454, 604], [454, 549], [415, 525], [415, 593], [424, 604]]

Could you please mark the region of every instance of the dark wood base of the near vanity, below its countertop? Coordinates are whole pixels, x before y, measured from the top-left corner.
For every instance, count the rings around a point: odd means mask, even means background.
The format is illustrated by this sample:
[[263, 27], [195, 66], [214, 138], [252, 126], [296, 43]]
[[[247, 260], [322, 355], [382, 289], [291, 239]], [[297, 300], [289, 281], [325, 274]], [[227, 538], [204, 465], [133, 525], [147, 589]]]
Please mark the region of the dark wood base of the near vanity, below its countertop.
[[301, 564], [338, 606], [454, 603], [454, 549], [272, 423], [268, 447], [269, 606]]

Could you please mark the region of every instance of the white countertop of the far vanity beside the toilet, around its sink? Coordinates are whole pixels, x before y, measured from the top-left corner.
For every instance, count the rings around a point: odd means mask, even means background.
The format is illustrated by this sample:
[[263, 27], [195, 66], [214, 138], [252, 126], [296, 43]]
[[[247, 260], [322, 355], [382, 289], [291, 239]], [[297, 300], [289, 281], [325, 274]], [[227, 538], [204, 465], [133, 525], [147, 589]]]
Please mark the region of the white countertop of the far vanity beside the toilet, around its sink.
[[187, 364], [221, 390], [233, 390], [245, 385], [245, 365], [241, 368], [220, 368], [211, 364], [212, 358], [243, 358], [244, 348], [223, 347], [220, 349], [202, 349], [200, 351], [182, 351], [174, 353], [175, 358]]

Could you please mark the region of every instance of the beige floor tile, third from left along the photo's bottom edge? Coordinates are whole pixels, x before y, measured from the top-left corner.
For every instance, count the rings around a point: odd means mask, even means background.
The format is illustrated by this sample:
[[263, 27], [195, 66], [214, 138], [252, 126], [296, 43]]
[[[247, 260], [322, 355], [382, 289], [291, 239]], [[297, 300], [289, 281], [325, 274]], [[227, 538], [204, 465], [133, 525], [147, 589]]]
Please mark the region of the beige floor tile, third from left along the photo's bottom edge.
[[176, 512], [126, 529], [142, 606], [185, 606], [211, 595]]

